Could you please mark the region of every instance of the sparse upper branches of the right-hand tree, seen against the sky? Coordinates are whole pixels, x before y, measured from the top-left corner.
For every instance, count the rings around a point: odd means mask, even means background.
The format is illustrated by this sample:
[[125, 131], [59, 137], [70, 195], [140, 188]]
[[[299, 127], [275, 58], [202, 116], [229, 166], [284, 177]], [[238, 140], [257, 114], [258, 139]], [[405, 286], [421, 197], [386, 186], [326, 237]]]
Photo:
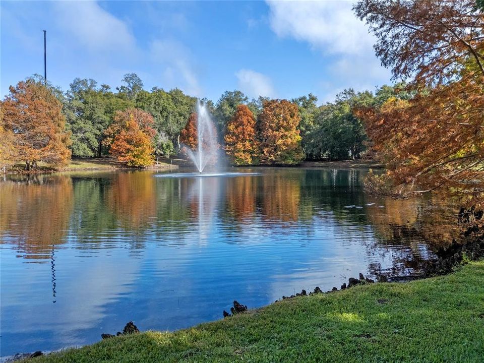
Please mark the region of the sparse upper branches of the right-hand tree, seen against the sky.
[[468, 57], [484, 73], [484, 12], [475, 0], [359, 0], [354, 11], [378, 39], [376, 54], [395, 78], [446, 83]]

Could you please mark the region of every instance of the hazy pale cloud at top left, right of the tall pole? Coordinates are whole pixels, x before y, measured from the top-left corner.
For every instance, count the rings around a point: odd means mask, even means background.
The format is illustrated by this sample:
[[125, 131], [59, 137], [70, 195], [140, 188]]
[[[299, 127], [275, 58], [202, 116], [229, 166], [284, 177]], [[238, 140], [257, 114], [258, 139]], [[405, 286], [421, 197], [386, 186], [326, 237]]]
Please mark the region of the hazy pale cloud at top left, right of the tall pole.
[[122, 20], [92, 1], [54, 2], [58, 24], [93, 52], [131, 52], [136, 40]]

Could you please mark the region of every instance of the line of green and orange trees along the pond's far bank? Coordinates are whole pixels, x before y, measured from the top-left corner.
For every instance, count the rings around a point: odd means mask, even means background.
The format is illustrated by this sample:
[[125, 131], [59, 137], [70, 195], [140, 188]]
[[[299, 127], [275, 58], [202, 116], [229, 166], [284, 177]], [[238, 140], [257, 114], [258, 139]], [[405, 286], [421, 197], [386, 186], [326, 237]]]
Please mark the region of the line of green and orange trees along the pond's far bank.
[[[129, 166], [153, 164], [183, 145], [196, 146], [197, 98], [179, 89], [143, 89], [127, 74], [111, 90], [93, 79], [76, 78], [64, 92], [33, 76], [10, 87], [2, 101], [0, 164], [37, 162], [63, 167], [74, 157], [112, 155]], [[234, 90], [214, 103], [219, 143], [234, 165], [298, 164], [302, 160], [359, 158], [366, 132], [356, 106], [375, 106], [402, 97], [402, 85], [375, 93], [345, 90], [335, 102], [317, 105], [313, 94], [291, 100], [249, 99]]]

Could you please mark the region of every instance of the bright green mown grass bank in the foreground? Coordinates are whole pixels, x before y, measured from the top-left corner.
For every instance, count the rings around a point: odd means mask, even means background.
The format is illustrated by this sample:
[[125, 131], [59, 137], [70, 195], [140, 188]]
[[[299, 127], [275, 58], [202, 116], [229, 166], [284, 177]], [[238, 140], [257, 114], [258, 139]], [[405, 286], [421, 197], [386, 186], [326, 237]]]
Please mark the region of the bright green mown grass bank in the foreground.
[[31, 361], [483, 360], [480, 261], [446, 276], [296, 297], [187, 330], [121, 336]]

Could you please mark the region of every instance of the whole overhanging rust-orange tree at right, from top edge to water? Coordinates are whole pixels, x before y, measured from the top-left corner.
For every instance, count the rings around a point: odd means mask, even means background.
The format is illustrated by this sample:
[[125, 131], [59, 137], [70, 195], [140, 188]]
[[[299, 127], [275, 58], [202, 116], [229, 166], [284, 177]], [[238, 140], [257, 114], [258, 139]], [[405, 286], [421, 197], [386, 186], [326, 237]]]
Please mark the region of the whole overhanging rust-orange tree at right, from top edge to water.
[[414, 76], [418, 90], [408, 102], [357, 110], [387, 166], [367, 185], [396, 194], [441, 191], [482, 205], [483, 12], [470, 0], [361, 0], [355, 12], [376, 35], [383, 65], [395, 77]]

